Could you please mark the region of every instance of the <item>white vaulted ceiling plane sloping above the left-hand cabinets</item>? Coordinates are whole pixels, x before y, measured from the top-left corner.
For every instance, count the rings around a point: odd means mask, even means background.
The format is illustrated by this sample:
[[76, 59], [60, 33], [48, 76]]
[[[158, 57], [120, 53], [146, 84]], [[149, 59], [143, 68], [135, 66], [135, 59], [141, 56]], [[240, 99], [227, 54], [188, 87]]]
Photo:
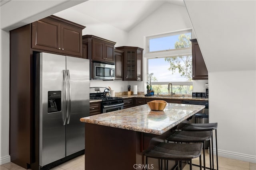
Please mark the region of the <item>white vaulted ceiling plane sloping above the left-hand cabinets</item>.
[[[84, 20], [89, 22], [88, 18], [93, 18], [130, 31], [164, 3], [184, 6], [183, 0], [89, 0], [54, 15], [62, 18], [68, 15], [66, 18], [73, 18], [72, 21], [77, 23], [85, 23]], [[79, 17], [76, 14], [79, 14]]]

